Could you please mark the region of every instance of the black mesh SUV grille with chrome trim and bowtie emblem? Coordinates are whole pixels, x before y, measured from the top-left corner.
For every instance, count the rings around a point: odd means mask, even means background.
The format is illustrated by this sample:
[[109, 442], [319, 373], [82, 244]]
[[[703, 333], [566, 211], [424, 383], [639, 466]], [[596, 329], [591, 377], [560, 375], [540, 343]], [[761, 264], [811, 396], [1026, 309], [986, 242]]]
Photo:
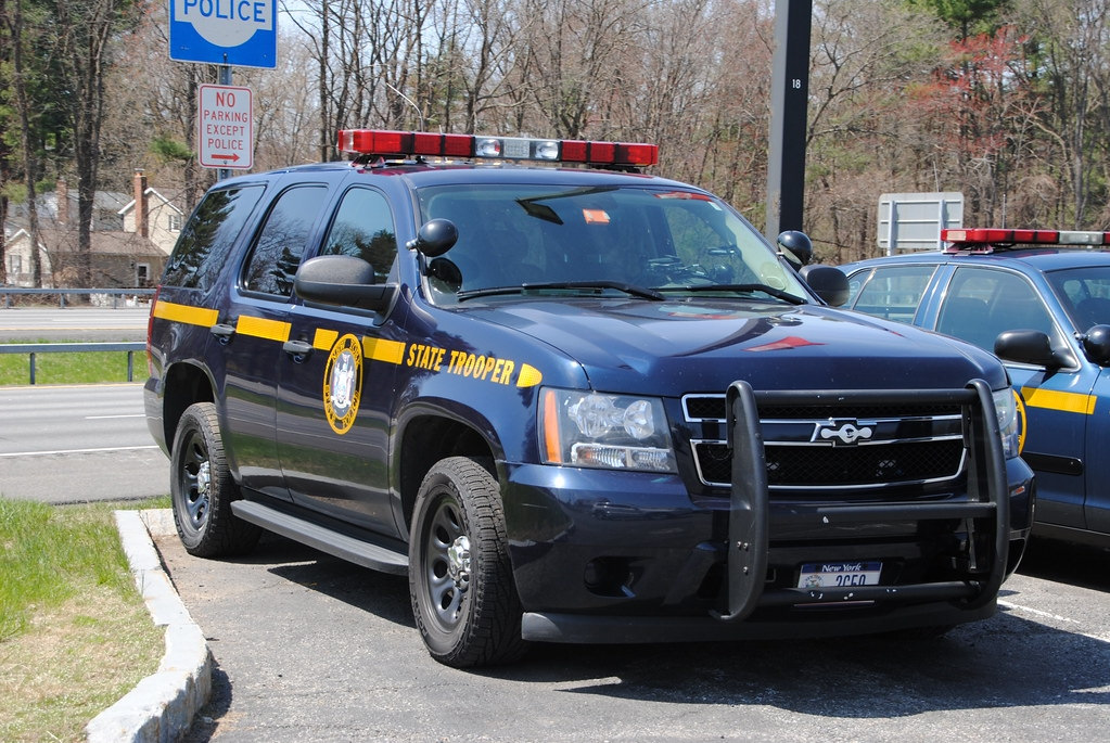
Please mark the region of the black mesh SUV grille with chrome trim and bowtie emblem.
[[[683, 408], [688, 421], [706, 429], [719, 424], [724, 435], [724, 395], [690, 395], [683, 399]], [[775, 406], [760, 407], [759, 418], [771, 489], [941, 482], [963, 470], [959, 405]], [[861, 429], [868, 438], [838, 436]], [[702, 482], [729, 487], [731, 460], [724, 438], [692, 439], [690, 446]]]

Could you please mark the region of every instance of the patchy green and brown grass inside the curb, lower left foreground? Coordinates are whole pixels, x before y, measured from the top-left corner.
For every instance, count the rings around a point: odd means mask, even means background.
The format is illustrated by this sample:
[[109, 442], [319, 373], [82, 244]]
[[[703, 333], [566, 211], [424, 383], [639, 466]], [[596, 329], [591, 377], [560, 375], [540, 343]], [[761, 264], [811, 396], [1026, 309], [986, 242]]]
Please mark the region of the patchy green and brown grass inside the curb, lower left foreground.
[[134, 587], [112, 511], [0, 497], [0, 741], [75, 741], [158, 669], [163, 631]]

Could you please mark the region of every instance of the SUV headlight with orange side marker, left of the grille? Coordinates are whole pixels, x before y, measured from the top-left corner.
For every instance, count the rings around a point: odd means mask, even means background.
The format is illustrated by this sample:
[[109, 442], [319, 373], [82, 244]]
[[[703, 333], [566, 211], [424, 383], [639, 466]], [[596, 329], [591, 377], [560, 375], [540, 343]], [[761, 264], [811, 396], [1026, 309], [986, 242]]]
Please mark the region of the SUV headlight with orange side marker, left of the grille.
[[539, 400], [544, 462], [677, 471], [663, 400], [551, 388]]

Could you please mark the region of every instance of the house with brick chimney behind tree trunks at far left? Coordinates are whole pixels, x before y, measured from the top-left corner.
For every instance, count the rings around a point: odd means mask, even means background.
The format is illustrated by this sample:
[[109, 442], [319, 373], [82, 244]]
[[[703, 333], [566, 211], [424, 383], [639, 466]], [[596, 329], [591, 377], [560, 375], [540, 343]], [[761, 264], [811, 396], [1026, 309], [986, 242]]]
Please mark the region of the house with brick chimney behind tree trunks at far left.
[[[57, 191], [44, 194], [40, 204], [42, 286], [72, 286], [77, 279], [78, 256], [75, 194], [69, 192], [64, 181], [59, 181]], [[148, 186], [142, 171], [135, 171], [130, 201], [124, 194], [98, 192], [93, 202], [90, 246], [92, 286], [153, 286], [173, 250], [182, 220], [180, 208]], [[32, 286], [31, 238], [26, 226], [17, 228], [8, 238], [4, 259], [9, 284]]]

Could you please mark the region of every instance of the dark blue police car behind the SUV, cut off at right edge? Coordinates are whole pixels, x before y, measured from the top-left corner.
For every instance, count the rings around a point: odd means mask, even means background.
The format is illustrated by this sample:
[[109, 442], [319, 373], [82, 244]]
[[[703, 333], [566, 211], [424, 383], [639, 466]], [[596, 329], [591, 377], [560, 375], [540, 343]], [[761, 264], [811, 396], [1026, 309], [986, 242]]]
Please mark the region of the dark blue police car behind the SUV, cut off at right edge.
[[1037, 474], [1033, 533], [1110, 546], [1110, 233], [947, 230], [942, 252], [844, 267], [849, 306], [1002, 358]]

